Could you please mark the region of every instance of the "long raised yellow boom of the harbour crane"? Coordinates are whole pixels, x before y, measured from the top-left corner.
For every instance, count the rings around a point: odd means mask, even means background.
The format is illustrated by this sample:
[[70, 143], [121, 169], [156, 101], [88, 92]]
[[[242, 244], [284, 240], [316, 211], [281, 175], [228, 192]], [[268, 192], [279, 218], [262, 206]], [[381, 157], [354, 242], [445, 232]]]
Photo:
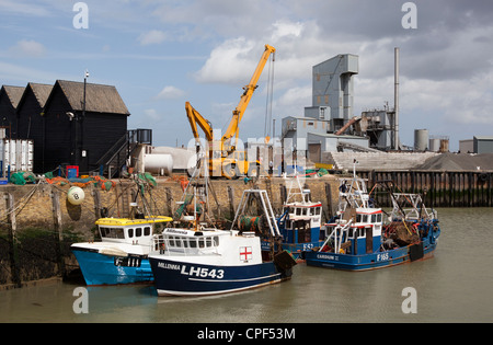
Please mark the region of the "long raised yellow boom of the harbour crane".
[[265, 64], [268, 60], [268, 57], [271, 54], [274, 54], [276, 49], [268, 44], [265, 45], [264, 54], [262, 54], [262, 57], [259, 61], [259, 65], [256, 66], [255, 71], [253, 72], [252, 79], [250, 80], [250, 83], [243, 88], [244, 92], [241, 95], [240, 103], [234, 108], [232, 113], [231, 122], [229, 123], [228, 129], [226, 129], [225, 135], [222, 136], [222, 142], [225, 140], [228, 140], [232, 138], [234, 135], [238, 136], [239, 125], [241, 122], [241, 118], [243, 117], [244, 111], [246, 110], [246, 106], [250, 103], [250, 100], [252, 97], [253, 92], [257, 88], [257, 82], [260, 79], [260, 76], [262, 74], [262, 71], [264, 70]]

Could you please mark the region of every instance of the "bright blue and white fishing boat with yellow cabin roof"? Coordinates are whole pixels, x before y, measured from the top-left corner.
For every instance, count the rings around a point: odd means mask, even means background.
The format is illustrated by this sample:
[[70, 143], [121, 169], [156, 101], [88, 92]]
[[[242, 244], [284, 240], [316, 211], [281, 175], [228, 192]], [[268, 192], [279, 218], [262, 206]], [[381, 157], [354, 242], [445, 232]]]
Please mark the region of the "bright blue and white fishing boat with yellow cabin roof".
[[148, 254], [152, 237], [172, 218], [164, 216], [136, 218], [100, 218], [95, 221], [101, 242], [73, 243], [88, 286], [152, 283]]

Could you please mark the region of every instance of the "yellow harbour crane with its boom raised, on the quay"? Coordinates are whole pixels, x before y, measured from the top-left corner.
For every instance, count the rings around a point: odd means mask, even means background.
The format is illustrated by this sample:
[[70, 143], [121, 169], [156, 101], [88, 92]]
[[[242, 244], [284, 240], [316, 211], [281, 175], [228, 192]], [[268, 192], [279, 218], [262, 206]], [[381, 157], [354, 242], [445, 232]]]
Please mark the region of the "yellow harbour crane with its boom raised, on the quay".
[[[271, 54], [273, 55], [275, 48], [265, 45], [265, 50], [256, 66], [255, 71], [250, 80], [250, 83], [243, 87], [243, 94], [241, 95], [238, 106], [232, 112], [232, 117], [229, 123], [226, 133], [220, 139], [215, 139], [213, 134], [213, 125], [204, 116], [200, 115], [190, 102], [185, 103], [186, 116], [192, 127], [192, 133], [195, 137], [197, 147], [200, 143], [198, 136], [198, 127], [204, 130], [205, 138], [208, 142], [208, 165], [210, 176], [226, 176], [228, 179], [237, 179], [240, 175], [252, 175], [255, 174], [256, 168], [260, 162], [249, 161], [245, 151], [237, 150], [238, 146], [238, 135], [240, 130], [240, 123], [244, 115], [244, 112], [250, 103], [253, 92], [257, 88], [257, 82], [262, 71], [267, 62]], [[268, 139], [266, 138], [268, 141]]]

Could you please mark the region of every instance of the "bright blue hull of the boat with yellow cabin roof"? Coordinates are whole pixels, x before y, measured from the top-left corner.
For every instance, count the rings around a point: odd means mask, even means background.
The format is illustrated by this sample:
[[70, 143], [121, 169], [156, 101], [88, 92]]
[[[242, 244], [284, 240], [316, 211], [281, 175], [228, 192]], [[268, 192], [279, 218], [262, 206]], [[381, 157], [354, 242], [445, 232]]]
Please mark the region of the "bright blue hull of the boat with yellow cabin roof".
[[149, 260], [144, 255], [127, 257], [103, 255], [98, 252], [78, 250], [72, 253], [88, 286], [119, 285], [153, 281]]

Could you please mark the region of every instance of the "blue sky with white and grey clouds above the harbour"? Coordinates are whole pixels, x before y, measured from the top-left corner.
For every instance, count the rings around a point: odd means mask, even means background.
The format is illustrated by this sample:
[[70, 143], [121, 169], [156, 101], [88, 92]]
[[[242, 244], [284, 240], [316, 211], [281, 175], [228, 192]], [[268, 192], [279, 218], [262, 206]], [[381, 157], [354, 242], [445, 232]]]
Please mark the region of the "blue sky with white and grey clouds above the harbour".
[[[493, 135], [493, 2], [413, 1], [416, 28], [399, 0], [0, 0], [0, 84], [57, 79], [117, 88], [129, 128], [151, 128], [156, 146], [187, 145], [190, 101], [225, 130], [265, 44], [274, 46], [273, 118], [311, 105], [311, 68], [337, 54], [359, 56], [354, 115], [393, 105], [400, 47], [400, 135], [448, 136], [450, 149]], [[76, 5], [76, 11], [74, 11]], [[79, 18], [77, 18], [79, 19]], [[83, 21], [77, 21], [82, 23]], [[410, 23], [410, 21], [406, 21]], [[404, 25], [405, 26], [405, 25]], [[264, 135], [267, 70], [240, 137]]]

